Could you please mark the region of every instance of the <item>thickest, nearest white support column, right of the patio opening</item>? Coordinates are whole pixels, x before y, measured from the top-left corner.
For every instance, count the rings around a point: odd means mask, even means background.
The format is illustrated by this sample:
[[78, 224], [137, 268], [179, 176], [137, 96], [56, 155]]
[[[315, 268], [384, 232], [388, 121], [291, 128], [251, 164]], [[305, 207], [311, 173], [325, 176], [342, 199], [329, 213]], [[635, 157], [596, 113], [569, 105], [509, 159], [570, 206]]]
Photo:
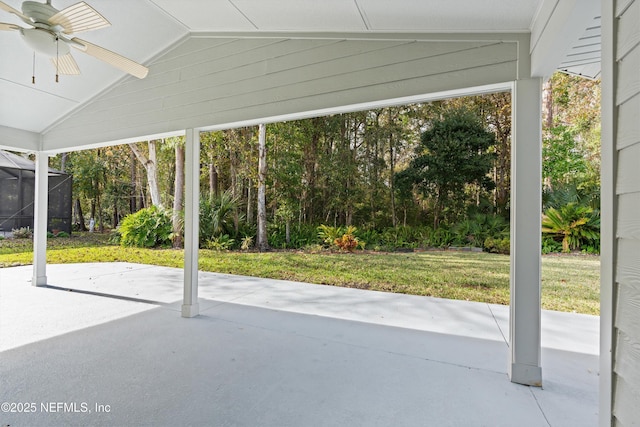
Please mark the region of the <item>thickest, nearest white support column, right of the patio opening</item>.
[[540, 270], [542, 259], [542, 80], [518, 80], [512, 93], [511, 305], [509, 378], [542, 386]]

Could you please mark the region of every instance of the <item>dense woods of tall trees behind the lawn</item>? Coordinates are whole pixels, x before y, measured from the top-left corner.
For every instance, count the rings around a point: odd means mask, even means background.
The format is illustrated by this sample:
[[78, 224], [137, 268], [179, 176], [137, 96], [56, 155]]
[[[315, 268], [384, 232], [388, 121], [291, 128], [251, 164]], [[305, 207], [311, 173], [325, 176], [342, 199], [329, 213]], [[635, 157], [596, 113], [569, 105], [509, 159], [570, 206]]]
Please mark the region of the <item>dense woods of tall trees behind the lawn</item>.
[[[589, 215], [597, 214], [599, 106], [597, 81], [558, 73], [545, 84], [541, 213], [549, 208], [560, 212], [562, 206], [573, 204], [591, 209]], [[436, 153], [433, 145], [428, 148], [421, 142], [422, 135], [460, 112], [473, 116], [493, 136], [484, 148], [472, 149], [490, 159], [486, 179], [469, 180], [449, 191], [449, 187], [435, 185], [433, 175], [429, 182], [426, 178], [418, 182], [415, 174], [410, 177], [410, 171], [419, 168], [417, 159]], [[231, 218], [225, 218], [217, 231], [209, 230], [209, 237], [229, 234], [239, 242], [239, 238], [255, 235], [258, 127], [203, 133], [201, 144], [203, 199], [215, 205], [211, 209], [220, 209], [220, 199], [224, 199]], [[266, 219], [274, 229], [286, 224], [288, 233], [289, 226], [320, 224], [355, 225], [361, 230], [437, 229], [453, 227], [479, 214], [508, 221], [510, 146], [509, 93], [269, 124]], [[439, 172], [445, 181], [470, 162], [462, 151], [449, 150], [449, 169], [442, 167]], [[125, 216], [152, 205], [172, 210], [174, 223], [178, 222], [183, 163], [184, 141], [176, 137], [64, 153], [52, 159], [51, 166], [73, 174], [74, 223], [78, 229], [95, 218], [99, 230], [104, 231], [115, 229]], [[434, 163], [429, 164], [433, 172]], [[556, 230], [556, 240], [562, 233]]]

